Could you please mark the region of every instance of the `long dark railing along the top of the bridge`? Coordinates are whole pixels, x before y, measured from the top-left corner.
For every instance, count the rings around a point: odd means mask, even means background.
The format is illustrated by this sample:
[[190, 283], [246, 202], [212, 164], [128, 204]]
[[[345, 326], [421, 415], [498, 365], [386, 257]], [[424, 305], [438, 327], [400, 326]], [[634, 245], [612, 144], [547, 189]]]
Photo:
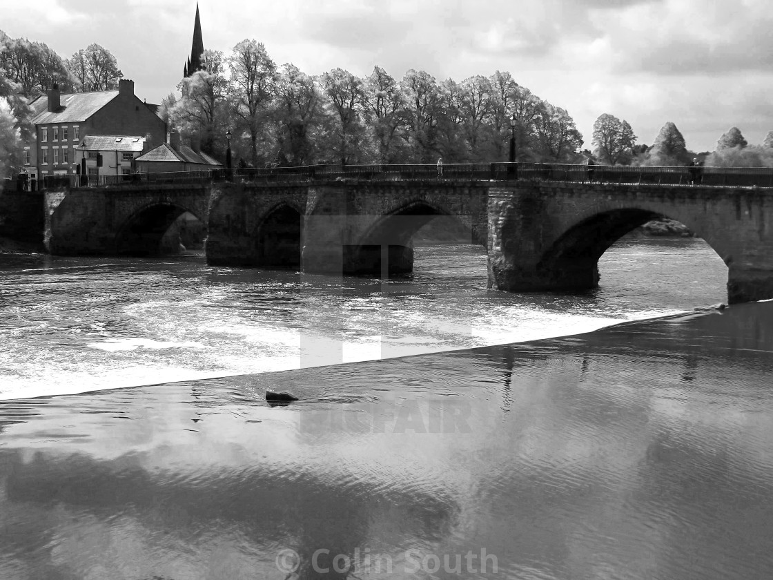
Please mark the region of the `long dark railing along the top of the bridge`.
[[773, 169], [756, 167], [634, 167], [563, 163], [458, 163], [447, 165], [303, 165], [261, 169], [131, 173], [121, 176], [49, 176], [44, 187], [111, 187], [148, 184], [191, 185], [218, 181], [264, 185], [314, 181], [553, 181], [645, 183], [669, 186], [773, 187]]

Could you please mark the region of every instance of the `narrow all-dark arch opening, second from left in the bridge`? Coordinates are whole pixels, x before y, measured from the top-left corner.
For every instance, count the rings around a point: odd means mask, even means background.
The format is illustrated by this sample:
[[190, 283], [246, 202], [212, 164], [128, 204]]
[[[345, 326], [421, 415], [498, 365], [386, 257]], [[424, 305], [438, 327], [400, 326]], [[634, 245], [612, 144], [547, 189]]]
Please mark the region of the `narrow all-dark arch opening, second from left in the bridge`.
[[302, 232], [298, 210], [283, 205], [272, 211], [258, 230], [257, 266], [270, 270], [300, 270]]

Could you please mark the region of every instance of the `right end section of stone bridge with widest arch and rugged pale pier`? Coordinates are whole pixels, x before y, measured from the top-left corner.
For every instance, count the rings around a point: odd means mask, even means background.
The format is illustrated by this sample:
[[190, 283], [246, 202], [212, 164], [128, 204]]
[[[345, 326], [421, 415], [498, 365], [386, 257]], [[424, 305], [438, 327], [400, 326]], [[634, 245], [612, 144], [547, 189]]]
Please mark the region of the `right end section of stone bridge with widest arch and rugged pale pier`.
[[773, 298], [773, 189], [519, 183], [489, 190], [489, 287], [598, 285], [598, 259], [655, 217], [684, 223], [728, 268], [728, 302]]

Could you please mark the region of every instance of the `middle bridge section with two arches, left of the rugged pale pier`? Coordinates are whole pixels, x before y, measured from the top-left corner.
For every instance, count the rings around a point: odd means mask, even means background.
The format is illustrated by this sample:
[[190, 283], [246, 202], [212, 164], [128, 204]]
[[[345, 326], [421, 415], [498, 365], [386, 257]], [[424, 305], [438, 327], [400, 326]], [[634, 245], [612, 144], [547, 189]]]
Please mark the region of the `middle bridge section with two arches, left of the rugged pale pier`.
[[482, 183], [230, 186], [213, 192], [210, 264], [393, 275], [413, 269], [412, 238], [437, 217], [461, 222], [485, 247]]

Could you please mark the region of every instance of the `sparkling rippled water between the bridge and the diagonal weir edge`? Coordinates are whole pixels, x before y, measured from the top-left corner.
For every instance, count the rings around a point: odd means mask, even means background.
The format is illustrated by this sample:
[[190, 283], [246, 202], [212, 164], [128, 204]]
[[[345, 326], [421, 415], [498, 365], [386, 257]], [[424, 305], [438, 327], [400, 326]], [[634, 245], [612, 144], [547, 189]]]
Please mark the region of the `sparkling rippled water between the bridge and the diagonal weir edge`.
[[0, 398], [538, 339], [726, 295], [727, 268], [693, 239], [616, 245], [584, 295], [489, 292], [481, 247], [416, 254], [412, 277], [383, 283], [209, 268], [201, 255], [0, 255]]

